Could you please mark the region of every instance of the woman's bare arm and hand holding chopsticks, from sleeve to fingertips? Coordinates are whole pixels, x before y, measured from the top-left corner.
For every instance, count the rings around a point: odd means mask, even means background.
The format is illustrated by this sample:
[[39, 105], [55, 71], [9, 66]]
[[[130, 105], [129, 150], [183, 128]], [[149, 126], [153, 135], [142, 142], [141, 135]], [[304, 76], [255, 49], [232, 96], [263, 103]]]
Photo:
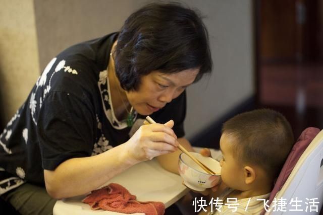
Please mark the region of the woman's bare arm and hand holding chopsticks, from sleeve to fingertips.
[[156, 156], [174, 152], [178, 142], [174, 122], [141, 126], [124, 144], [102, 154], [73, 158], [55, 170], [44, 170], [45, 185], [53, 198], [85, 194], [127, 168]]

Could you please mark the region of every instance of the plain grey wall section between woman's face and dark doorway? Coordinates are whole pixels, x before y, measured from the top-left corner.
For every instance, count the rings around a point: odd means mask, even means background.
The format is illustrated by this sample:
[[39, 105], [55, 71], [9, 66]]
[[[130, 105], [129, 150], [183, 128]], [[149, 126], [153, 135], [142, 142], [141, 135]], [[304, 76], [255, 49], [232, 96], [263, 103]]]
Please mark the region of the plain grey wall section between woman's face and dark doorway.
[[213, 59], [212, 75], [187, 90], [185, 130], [192, 137], [255, 92], [252, 1], [185, 2], [206, 16]]

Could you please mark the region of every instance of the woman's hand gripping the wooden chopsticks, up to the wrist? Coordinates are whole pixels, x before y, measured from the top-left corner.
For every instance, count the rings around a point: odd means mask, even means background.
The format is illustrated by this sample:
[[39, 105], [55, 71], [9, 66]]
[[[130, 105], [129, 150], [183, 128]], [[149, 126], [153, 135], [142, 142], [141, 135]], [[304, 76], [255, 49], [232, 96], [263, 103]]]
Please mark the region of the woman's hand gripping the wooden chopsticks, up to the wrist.
[[140, 126], [125, 143], [129, 156], [140, 162], [175, 152], [179, 143], [172, 129], [173, 126], [173, 120], [165, 124], [155, 123]]

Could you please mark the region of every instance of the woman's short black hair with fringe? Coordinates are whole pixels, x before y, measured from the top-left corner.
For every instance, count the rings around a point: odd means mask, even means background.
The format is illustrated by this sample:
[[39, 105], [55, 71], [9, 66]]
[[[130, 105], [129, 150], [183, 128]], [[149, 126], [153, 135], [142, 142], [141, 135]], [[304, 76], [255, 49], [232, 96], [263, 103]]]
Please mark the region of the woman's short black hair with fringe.
[[116, 74], [122, 88], [137, 90], [151, 71], [178, 73], [199, 68], [195, 81], [210, 73], [208, 33], [198, 12], [180, 3], [152, 3], [134, 12], [118, 36]]

